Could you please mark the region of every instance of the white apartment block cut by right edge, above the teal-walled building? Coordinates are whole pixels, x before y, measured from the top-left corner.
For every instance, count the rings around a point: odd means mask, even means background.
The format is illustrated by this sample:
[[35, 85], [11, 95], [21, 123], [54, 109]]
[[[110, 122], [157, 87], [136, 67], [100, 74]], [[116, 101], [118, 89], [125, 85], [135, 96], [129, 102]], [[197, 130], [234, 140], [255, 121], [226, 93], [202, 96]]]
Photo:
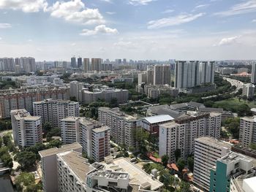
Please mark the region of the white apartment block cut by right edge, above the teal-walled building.
[[239, 140], [244, 147], [256, 143], [256, 117], [240, 119]]

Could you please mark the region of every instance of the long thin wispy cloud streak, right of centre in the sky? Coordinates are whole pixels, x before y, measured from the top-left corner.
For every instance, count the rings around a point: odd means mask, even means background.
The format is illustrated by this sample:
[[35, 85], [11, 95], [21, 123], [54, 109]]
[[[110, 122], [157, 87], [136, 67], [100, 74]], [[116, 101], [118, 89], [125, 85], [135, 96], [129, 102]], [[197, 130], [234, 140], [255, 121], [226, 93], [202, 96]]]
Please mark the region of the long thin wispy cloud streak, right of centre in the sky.
[[187, 15], [177, 15], [170, 18], [162, 18], [159, 20], [151, 20], [148, 22], [148, 29], [153, 28], [163, 28], [167, 26], [178, 26], [182, 23], [189, 23], [192, 20], [196, 20], [204, 15], [204, 13], [198, 13], [196, 15], [187, 14]]

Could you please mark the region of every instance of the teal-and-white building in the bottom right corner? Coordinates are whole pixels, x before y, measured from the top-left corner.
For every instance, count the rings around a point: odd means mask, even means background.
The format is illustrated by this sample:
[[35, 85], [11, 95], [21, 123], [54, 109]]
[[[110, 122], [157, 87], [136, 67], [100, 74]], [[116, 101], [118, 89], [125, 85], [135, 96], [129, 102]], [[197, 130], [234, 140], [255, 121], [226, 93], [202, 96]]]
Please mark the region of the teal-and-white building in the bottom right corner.
[[211, 169], [210, 192], [249, 192], [243, 182], [251, 177], [256, 181], [252, 163], [252, 158], [233, 152], [219, 158]]

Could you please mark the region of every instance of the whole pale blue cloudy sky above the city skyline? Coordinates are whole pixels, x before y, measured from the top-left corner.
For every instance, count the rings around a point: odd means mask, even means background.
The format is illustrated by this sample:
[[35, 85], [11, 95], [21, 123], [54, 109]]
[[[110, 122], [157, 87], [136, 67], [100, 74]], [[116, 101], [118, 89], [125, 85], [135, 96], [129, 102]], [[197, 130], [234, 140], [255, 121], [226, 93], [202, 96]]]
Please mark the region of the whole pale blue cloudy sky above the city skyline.
[[0, 57], [256, 59], [256, 0], [0, 0]]

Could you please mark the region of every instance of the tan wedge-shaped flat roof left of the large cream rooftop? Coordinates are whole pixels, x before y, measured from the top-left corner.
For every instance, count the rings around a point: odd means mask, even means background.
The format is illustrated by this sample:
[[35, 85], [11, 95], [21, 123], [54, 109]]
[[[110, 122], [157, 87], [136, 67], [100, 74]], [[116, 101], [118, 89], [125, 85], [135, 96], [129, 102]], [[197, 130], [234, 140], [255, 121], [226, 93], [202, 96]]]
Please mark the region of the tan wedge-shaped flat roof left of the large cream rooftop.
[[81, 153], [67, 151], [59, 153], [59, 156], [67, 163], [73, 172], [86, 183], [86, 174], [94, 170], [94, 167], [86, 163], [86, 158], [81, 157]]

